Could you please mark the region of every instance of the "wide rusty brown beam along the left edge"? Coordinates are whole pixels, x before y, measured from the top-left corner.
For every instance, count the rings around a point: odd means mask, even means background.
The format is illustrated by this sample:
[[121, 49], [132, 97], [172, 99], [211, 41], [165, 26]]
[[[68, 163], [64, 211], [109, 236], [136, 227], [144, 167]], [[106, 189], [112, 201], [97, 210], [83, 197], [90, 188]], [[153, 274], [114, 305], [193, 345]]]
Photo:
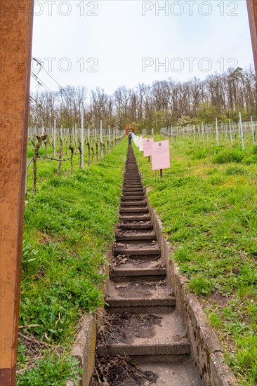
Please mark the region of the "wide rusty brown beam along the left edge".
[[15, 385], [33, 0], [0, 1], [0, 385]]

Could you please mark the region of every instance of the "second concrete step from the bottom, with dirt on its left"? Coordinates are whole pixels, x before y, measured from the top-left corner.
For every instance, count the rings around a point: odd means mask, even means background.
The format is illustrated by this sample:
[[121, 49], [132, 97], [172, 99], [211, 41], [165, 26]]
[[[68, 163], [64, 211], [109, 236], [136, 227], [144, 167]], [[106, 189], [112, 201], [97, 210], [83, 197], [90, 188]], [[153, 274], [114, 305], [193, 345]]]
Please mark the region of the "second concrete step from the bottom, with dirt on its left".
[[[131, 314], [114, 316], [116, 335], [98, 345], [98, 355], [152, 356], [190, 354], [176, 312], [163, 314]], [[117, 328], [118, 326], [118, 328]], [[110, 326], [112, 331], [112, 325]]]

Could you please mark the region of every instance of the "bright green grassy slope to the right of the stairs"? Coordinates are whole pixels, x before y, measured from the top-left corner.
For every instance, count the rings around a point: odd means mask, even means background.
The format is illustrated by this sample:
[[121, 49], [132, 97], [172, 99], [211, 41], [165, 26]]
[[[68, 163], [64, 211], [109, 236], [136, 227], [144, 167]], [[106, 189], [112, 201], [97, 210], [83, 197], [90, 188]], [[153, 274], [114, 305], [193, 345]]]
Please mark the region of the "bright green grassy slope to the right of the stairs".
[[162, 180], [136, 154], [172, 258], [199, 295], [226, 361], [242, 385], [256, 385], [257, 147], [171, 142], [171, 169]]

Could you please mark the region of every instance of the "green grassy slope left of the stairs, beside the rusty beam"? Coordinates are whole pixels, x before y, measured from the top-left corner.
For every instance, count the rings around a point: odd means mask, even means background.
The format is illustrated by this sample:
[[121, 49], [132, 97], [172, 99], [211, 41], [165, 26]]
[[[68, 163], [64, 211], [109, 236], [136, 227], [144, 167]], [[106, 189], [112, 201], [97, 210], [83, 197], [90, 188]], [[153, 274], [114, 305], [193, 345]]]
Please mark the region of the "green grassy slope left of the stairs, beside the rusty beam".
[[[123, 141], [99, 164], [72, 176], [69, 164], [56, 178], [56, 164], [39, 161], [38, 194], [28, 194], [25, 208], [20, 326], [28, 326], [23, 335], [60, 345], [60, 354], [22, 339], [18, 385], [59, 386], [77, 379], [78, 366], [68, 352], [79, 317], [103, 304], [98, 269], [114, 239], [125, 159]], [[33, 350], [41, 357], [37, 366]]]

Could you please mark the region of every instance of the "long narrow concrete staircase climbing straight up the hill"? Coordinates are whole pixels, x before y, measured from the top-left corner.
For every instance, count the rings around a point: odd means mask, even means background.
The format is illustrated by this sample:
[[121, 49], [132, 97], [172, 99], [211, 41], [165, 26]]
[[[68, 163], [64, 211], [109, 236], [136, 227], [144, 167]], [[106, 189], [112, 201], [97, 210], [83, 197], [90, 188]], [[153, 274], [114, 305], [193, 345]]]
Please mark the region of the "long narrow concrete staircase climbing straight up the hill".
[[91, 385], [202, 386], [131, 147], [119, 213]]

